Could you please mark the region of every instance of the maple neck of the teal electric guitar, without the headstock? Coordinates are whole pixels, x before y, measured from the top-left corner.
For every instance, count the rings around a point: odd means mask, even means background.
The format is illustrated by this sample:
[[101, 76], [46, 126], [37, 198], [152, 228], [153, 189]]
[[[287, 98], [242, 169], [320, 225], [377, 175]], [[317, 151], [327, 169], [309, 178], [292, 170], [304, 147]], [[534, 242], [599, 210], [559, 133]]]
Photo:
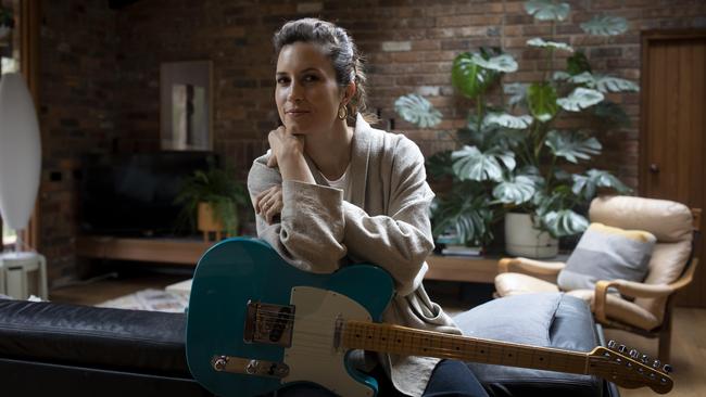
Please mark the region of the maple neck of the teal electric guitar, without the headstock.
[[350, 349], [403, 356], [449, 358], [579, 374], [590, 373], [589, 355], [584, 353], [382, 323], [346, 321], [341, 329], [340, 344]]

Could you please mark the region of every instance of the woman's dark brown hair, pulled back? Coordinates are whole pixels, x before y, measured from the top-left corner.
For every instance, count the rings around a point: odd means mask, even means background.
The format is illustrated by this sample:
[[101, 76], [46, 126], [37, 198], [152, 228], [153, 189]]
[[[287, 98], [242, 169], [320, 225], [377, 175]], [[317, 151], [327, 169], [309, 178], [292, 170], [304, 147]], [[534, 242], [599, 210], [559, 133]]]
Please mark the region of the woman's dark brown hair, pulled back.
[[331, 61], [333, 71], [336, 71], [336, 80], [340, 87], [344, 88], [351, 81], [355, 82], [355, 94], [348, 104], [349, 117], [355, 120], [355, 114], [360, 112], [365, 115], [366, 119], [373, 120], [374, 115], [365, 114], [366, 77], [363, 71], [363, 57], [348, 31], [330, 22], [316, 18], [290, 21], [273, 38], [275, 53], [279, 54], [282, 47], [298, 41], [319, 46], [324, 54]]

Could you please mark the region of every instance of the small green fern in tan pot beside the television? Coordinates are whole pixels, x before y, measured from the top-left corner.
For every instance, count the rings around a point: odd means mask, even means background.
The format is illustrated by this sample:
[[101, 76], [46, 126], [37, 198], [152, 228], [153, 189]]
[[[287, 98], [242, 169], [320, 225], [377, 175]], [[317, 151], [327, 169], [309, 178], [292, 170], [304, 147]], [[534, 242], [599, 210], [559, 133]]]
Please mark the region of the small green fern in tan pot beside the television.
[[179, 225], [198, 228], [209, 240], [211, 232], [216, 240], [236, 235], [240, 227], [240, 210], [250, 205], [244, 183], [236, 180], [235, 172], [219, 168], [210, 162], [205, 170], [196, 170], [185, 178], [175, 202], [180, 204]]

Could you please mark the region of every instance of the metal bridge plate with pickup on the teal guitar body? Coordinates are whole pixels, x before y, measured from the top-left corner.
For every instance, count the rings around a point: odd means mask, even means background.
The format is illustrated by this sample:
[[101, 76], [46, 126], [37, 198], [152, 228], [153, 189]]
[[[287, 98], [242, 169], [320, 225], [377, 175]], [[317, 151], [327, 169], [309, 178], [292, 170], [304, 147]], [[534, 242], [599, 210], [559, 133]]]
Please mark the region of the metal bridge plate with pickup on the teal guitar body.
[[290, 347], [294, 324], [294, 306], [248, 302], [245, 343]]

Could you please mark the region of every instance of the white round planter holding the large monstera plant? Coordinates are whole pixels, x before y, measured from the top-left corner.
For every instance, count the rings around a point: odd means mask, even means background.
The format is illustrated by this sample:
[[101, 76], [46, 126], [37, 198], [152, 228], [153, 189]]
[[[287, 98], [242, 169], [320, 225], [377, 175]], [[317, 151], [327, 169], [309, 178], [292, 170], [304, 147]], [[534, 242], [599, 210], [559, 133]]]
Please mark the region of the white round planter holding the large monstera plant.
[[550, 233], [535, 229], [529, 214], [508, 213], [505, 215], [505, 251], [513, 256], [553, 258], [559, 252], [559, 242]]

